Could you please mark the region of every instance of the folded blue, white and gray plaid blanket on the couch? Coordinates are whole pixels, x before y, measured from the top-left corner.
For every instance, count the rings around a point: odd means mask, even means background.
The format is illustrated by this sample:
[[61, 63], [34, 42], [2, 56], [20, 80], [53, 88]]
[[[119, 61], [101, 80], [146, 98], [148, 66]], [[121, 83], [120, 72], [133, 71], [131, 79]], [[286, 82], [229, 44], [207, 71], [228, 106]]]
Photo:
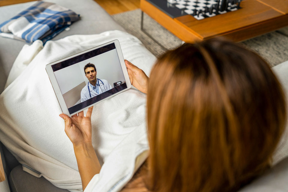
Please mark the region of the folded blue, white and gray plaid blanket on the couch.
[[80, 16], [70, 9], [54, 3], [37, 1], [13, 18], [0, 24], [0, 35], [32, 43], [40, 39], [43, 44], [54, 38]]

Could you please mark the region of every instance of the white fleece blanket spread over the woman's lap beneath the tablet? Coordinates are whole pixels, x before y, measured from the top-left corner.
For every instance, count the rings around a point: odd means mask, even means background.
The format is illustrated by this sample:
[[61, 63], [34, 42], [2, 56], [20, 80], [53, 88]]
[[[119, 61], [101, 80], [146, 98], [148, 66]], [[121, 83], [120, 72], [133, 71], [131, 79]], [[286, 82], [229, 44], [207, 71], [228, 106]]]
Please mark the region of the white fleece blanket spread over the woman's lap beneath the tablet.
[[[64, 121], [58, 116], [61, 109], [45, 65], [114, 39], [119, 40], [124, 58], [149, 75], [155, 56], [134, 36], [120, 31], [73, 35], [48, 41], [0, 95], [0, 140], [25, 171], [38, 177], [44, 176], [60, 188], [70, 191], [82, 189], [73, 146], [64, 132]], [[35, 47], [39, 49], [39, 46]], [[31, 54], [34, 53], [31, 51]], [[117, 148], [122, 150], [119, 162], [129, 164], [148, 149], [145, 114], [146, 95], [133, 88], [95, 105], [91, 117], [92, 143], [101, 165], [111, 161], [109, 154], [119, 153]], [[127, 148], [123, 147], [125, 143]], [[102, 170], [104, 168], [105, 164]], [[133, 170], [134, 163], [129, 169], [118, 166], [105, 177], [109, 181], [109, 178], [125, 174], [125, 178], [129, 179]], [[108, 187], [113, 187], [118, 181], [118, 177], [114, 178], [107, 184]]]

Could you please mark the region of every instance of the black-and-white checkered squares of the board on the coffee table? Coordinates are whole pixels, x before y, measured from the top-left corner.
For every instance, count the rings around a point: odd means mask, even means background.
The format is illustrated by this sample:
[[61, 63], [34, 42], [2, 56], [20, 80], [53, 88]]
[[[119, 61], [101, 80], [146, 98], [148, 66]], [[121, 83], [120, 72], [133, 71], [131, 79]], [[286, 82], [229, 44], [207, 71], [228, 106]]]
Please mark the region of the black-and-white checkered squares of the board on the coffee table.
[[[222, 1], [223, 0], [220, 0], [219, 10]], [[218, 3], [217, 0], [167, 0], [167, 2], [183, 10], [185, 13], [194, 16], [194, 18], [198, 20], [213, 17], [216, 16], [217, 14], [224, 14], [230, 11], [238, 10], [236, 4], [232, 5], [231, 3], [228, 3], [228, 7], [226, 10], [222, 12], [218, 11], [218, 13], [216, 13], [216, 10], [213, 9], [212, 14], [210, 14], [208, 9], [213, 5], [216, 6]], [[200, 14], [198, 16], [199, 11]]]

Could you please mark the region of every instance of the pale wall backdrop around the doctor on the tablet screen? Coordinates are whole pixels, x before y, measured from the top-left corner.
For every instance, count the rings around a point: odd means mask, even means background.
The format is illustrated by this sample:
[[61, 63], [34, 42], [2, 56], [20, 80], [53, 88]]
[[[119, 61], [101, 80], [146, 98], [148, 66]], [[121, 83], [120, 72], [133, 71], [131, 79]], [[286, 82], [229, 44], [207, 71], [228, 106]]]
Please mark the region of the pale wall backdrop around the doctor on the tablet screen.
[[88, 79], [84, 73], [87, 63], [95, 64], [98, 79], [106, 79], [113, 86], [114, 82], [125, 81], [116, 49], [86, 59], [69, 67], [54, 72], [67, 108], [80, 103], [80, 94]]

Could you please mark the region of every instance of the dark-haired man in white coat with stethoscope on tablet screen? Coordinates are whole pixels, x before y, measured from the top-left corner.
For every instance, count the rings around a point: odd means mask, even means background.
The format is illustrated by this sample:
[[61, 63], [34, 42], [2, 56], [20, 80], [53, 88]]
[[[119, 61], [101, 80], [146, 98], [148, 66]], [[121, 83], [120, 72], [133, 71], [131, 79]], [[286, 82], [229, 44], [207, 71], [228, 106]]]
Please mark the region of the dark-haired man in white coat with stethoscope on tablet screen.
[[99, 95], [109, 89], [112, 89], [111, 85], [105, 79], [97, 79], [96, 67], [92, 63], [88, 63], [84, 66], [85, 76], [88, 79], [87, 85], [82, 88], [81, 102], [86, 101], [96, 95]]

